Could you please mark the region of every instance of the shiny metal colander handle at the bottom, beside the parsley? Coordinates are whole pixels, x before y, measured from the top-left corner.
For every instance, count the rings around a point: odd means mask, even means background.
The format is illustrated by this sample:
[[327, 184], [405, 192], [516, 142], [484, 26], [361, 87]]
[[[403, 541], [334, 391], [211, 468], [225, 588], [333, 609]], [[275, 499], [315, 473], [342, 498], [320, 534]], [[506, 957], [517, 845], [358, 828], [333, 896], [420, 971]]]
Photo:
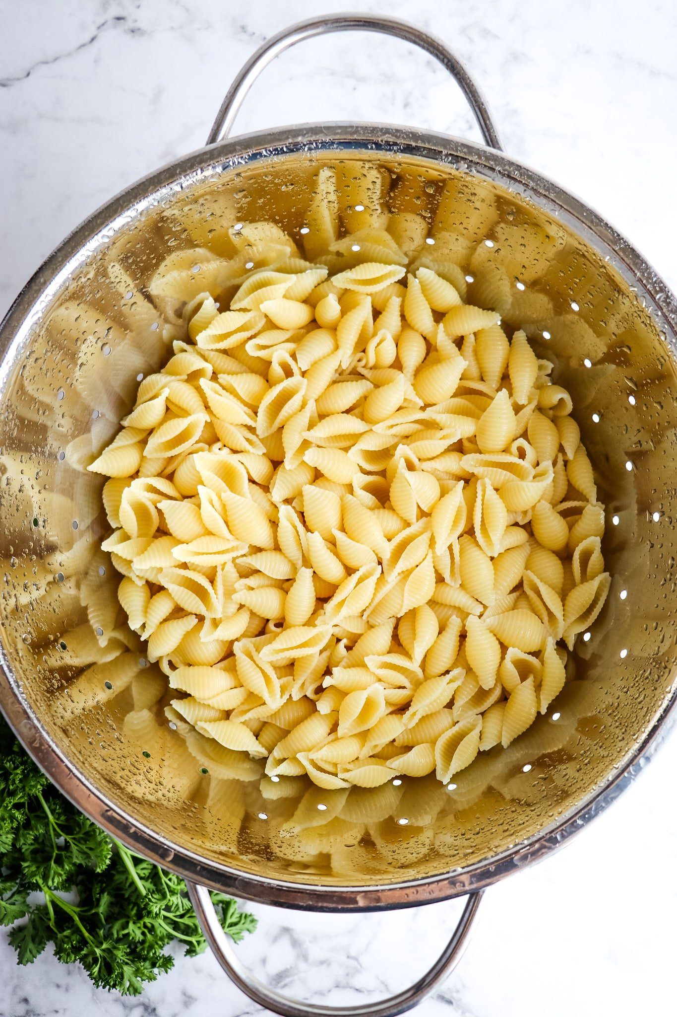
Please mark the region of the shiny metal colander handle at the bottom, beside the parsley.
[[484, 892], [476, 890], [468, 895], [463, 914], [443, 953], [437, 957], [432, 967], [409, 989], [404, 989], [401, 993], [376, 1003], [359, 1003], [354, 1007], [329, 1007], [324, 1004], [303, 1003], [300, 1000], [289, 999], [260, 981], [242, 963], [232, 943], [221, 929], [209, 890], [188, 881], [187, 886], [207, 943], [227, 976], [241, 992], [249, 996], [259, 1006], [272, 1010], [273, 1013], [282, 1014], [282, 1017], [396, 1017], [396, 1014], [411, 1010], [412, 1007], [417, 1006], [425, 999], [435, 985], [444, 981], [458, 964], [467, 946], [470, 928]]

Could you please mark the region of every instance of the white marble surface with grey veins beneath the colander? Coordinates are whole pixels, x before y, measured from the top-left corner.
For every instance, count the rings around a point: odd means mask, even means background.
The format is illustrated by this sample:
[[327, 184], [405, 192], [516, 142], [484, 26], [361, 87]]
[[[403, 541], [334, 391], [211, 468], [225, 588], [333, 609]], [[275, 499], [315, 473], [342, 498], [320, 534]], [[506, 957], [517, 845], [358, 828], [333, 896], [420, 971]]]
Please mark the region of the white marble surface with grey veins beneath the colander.
[[[0, 0], [0, 311], [49, 251], [113, 193], [198, 147], [233, 72], [325, 0]], [[672, 0], [403, 0], [466, 60], [506, 149], [582, 195], [677, 288], [677, 8]], [[308, 82], [313, 80], [313, 87]], [[242, 130], [301, 120], [409, 122], [477, 137], [432, 61], [334, 36], [266, 72]], [[677, 736], [614, 807], [545, 863], [492, 888], [458, 972], [424, 1017], [638, 1017], [672, 1012], [677, 930]], [[458, 903], [386, 915], [259, 907], [242, 947], [288, 992], [349, 1003], [420, 973]], [[209, 956], [180, 959], [138, 1000], [43, 956], [14, 964], [0, 934], [0, 1017], [236, 1017], [257, 1008]]]

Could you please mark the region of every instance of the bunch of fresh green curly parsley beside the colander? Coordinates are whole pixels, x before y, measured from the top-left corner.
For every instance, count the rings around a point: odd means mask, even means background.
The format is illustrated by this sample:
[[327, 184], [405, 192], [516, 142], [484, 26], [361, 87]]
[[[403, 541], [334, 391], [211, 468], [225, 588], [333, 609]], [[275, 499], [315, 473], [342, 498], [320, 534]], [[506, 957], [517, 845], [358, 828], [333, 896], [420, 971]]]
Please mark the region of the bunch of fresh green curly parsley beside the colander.
[[[256, 918], [212, 893], [239, 943]], [[93, 983], [138, 995], [168, 971], [175, 940], [188, 956], [206, 942], [179, 876], [132, 854], [50, 784], [0, 716], [0, 925], [20, 964], [49, 943]]]

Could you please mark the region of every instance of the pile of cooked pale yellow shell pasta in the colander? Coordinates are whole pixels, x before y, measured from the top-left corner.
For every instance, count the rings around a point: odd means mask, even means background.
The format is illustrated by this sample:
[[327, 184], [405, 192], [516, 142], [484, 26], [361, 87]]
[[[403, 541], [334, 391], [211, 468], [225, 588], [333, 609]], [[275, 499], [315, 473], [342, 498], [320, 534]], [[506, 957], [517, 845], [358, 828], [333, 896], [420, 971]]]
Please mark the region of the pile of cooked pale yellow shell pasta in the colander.
[[288, 257], [219, 306], [202, 262], [89, 466], [167, 722], [273, 778], [448, 783], [547, 712], [609, 589], [570, 397], [444, 268]]

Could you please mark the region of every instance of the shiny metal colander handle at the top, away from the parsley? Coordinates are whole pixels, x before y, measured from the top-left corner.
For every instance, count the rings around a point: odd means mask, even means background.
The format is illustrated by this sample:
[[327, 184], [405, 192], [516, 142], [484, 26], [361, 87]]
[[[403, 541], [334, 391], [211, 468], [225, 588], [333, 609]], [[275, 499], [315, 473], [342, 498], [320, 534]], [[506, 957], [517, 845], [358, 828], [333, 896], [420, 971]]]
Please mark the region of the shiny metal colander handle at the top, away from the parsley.
[[418, 46], [419, 49], [429, 53], [430, 56], [439, 61], [460, 86], [475, 115], [475, 120], [486, 144], [502, 152], [498, 132], [493, 125], [484, 97], [459, 58], [434, 36], [428, 36], [426, 32], [421, 32], [415, 25], [400, 21], [399, 18], [381, 17], [375, 14], [325, 14], [322, 17], [312, 17], [308, 21], [299, 21], [288, 28], [283, 28], [282, 32], [278, 32], [276, 36], [265, 42], [249, 58], [228, 88], [218, 111], [218, 116], [209, 132], [207, 144], [214, 144], [228, 136], [247, 93], [261, 71], [278, 54], [304, 39], [329, 35], [332, 32], [378, 32], [384, 36], [402, 39], [404, 42]]

